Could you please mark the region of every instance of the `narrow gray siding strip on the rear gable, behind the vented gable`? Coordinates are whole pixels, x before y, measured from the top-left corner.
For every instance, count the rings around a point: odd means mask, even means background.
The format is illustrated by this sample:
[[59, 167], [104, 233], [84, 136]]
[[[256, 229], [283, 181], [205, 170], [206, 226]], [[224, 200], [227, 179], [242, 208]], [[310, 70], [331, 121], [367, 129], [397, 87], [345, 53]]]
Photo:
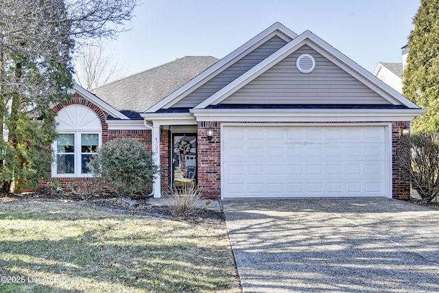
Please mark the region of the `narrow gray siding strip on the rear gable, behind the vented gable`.
[[254, 65], [257, 65], [275, 51], [285, 46], [286, 43], [285, 40], [278, 36], [270, 38], [270, 40], [251, 51], [198, 89], [195, 89], [195, 91], [174, 104], [173, 107], [191, 108], [197, 106], [204, 101], [204, 99], [207, 99], [230, 82], [233, 82], [233, 80], [239, 78], [239, 76], [254, 67]]

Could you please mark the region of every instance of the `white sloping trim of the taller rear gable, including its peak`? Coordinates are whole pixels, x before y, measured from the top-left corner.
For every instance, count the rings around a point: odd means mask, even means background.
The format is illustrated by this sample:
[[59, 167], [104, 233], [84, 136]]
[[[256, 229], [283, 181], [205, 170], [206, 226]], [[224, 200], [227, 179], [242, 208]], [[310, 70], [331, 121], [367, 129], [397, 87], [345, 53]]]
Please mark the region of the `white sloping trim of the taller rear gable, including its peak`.
[[[280, 32], [281, 34], [278, 34], [277, 32]], [[268, 27], [267, 29], [263, 30], [263, 32], [257, 34], [257, 36], [254, 36], [253, 38], [248, 40], [246, 43], [244, 43], [244, 45], [241, 45], [230, 54], [216, 62], [214, 65], [200, 73], [200, 75], [187, 82], [187, 84], [181, 86], [180, 89], [177, 89], [176, 91], [174, 91], [174, 93], [171, 93], [170, 95], [165, 97], [165, 99], [162, 99], [160, 102], [147, 109], [146, 112], [154, 113], [161, 108], [169, 108], [176, 102], [180, 101], [180, 99], [185, 97], [185, 95], [191, 93], [199, 86], [204, 84], [207, 80], [210, 80], [211, 78], [213, 78], [213, 76], [222, 72], [230, 65], [230, 63], [233, 63], [236, 60], [240, 59], [241, 56], [248, 54], [248, 51], [252, 51], [254, 47], [259, 46], [261, 43], [264, 43], [266, 40], [274, 35], [283, 38], [287, 42], [293, 40], [298, 36], [295, 32], [289, 30], [281, 23], [274, 23], [273, 25], [270, 25], [270, 27]], [[285, 36], [287, 37], [285, 38]]]

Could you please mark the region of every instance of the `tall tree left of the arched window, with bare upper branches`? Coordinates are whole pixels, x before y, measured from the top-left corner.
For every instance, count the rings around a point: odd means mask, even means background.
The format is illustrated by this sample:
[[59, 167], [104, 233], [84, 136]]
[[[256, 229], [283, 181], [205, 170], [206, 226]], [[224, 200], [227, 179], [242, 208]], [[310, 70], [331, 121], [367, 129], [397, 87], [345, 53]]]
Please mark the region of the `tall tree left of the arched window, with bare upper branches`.
[[[0, 0], [0, 181], [36, 187], [51, 163], [51, 107], [71, 97], [71, 55], [84, 38], [115, 37], [137, 0]], [[12, 188], [10, 188], [12, 185]]]

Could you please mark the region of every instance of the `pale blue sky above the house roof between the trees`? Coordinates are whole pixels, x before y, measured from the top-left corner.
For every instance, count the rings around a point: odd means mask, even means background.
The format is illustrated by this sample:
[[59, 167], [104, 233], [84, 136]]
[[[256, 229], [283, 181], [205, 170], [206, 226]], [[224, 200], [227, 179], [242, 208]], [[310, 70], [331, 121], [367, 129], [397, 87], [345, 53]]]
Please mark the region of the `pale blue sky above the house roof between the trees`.
[[143, 0], [110, 43], [126, 75], [183, 56], [222, 58], [276, 21], [310, 30], [359, 65], [401, 62], [420, 0]]

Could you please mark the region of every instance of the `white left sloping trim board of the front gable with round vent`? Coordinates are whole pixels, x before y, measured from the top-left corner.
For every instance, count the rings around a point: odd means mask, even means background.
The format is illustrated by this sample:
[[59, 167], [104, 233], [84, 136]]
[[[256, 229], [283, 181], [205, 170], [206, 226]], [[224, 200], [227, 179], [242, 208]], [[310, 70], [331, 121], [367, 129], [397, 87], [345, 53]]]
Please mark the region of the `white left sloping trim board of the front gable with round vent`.
[[308, 34], [306, 33], [300, 34], [294, 40], [283, 46], [281, 49], [278, 49], [278, 51], [274, 52], [272, 55], [259, 62], [259, 64], [255, 65], [252, 69], [248, 70], [246, 73], [239, 76], [239, 78], [233, 80], [233, 82], [230, 82], [230, 84], [224, 86], [224, 88], [220, 89], [193, 108], [202, 109], [206, 108], [209, 105], [219, 104], [224, 99], [235, 93], [237, 90], [241, 89], [241, 87], [254, 80], [254, 78], [257, 78], [261, 73], [270, 69], [270, 67], [275, 65], [279, 59], [283, 59], [291, 54], [291, 52], [294, 51], [296, 47], [301, 45], [307, 37]]

